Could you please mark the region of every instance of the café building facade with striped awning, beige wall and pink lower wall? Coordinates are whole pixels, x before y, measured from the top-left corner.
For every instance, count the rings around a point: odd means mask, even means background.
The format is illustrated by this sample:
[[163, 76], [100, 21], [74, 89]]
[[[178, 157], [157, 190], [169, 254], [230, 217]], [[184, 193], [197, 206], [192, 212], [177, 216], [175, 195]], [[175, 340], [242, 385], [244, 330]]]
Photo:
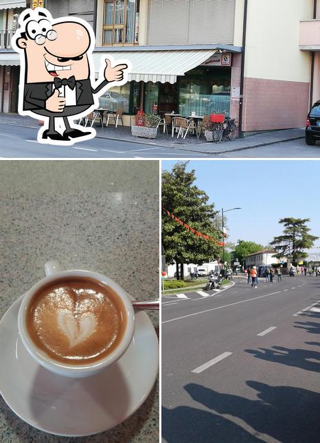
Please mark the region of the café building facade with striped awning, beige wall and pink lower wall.
[[128, 84], [100, 98], [128, 125], [143, 109], [226, 111], [244, 134], [294, 128], [320, 98], [320, 0], [0, 0], [1, 112], [17, 108], [12, 32], [37, 4], [92, 25], [96, 73], [108, 54], [130, 60]]

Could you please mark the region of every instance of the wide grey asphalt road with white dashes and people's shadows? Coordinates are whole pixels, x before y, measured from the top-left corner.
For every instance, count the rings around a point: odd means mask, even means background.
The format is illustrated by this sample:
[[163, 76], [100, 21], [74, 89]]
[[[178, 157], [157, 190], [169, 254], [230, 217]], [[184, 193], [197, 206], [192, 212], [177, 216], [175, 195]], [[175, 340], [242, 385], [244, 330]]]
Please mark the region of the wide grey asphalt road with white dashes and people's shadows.
[[185, 295], [163, 299], [163, 441], [319, 442], [320, 278]]

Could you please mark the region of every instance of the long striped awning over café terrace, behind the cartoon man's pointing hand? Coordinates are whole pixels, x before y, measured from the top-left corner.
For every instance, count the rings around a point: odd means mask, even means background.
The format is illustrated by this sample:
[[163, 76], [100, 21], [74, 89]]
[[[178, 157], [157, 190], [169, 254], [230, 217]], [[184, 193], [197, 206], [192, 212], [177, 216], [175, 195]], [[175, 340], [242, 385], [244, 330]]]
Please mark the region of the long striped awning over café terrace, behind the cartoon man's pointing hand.
[[187, 71], [201, 65], [215, 54], [216, 49], [188, 49], [174, 51], [112, 51], [93, 52], [95, 72], [100, 69], [100, 59], [108, 54], [117, 59], [127, 59], [132, 65], [128, 80], [136, 82], [175, 83], [177, 76], [184, 76]]

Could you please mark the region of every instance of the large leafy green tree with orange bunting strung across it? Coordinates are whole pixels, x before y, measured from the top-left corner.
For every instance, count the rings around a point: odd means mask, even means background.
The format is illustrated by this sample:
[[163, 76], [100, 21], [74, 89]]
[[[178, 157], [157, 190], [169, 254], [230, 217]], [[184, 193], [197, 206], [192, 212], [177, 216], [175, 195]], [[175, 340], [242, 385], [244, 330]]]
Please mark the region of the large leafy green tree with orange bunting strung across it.
[[[184, 263], [203, 264], [220, 257], [222, 251], [218, 245], [222, 242], [222, 231], [215, 226], [218, 211], [214, 210], [214, 204], [208, 204], [207, 194], [194, 185], [195, 171], [187, 172], [187, 163], [176, 163], [172, 172], [163, 171], [162, 174], [162, 244], [166, 261], [176, 262], [177, 279], [183, 279]], [[216, 242], [195, 236], [172, 220], [165, 210]]]

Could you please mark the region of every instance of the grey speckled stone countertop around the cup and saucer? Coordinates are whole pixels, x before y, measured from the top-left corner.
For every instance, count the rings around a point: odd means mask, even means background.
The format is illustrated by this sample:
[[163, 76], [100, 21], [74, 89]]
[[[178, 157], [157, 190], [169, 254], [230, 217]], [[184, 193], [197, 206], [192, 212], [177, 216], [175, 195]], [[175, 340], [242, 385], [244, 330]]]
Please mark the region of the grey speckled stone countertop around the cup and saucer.
[[[49, 259], [108, 275], [137, 299], [159, 295], [158, 161], [0, 161], [0, 226], [0, 317]], [[38, 431], [0, 396], [0, 442], [158, 442], [158, 385], [125, 422], [83, 438]]]

